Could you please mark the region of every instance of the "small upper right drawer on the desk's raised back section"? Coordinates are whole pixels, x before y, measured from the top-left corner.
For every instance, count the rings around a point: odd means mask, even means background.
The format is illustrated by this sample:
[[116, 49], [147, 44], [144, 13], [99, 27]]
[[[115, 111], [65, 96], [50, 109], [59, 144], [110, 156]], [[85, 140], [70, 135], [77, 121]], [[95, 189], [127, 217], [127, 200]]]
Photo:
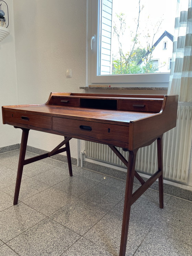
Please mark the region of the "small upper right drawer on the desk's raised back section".
[[130, 111], [145, 111], [145, 112], [160, 112], [163, 101], [153, 100], [119, 100], [118, 110], [130, 110]]

